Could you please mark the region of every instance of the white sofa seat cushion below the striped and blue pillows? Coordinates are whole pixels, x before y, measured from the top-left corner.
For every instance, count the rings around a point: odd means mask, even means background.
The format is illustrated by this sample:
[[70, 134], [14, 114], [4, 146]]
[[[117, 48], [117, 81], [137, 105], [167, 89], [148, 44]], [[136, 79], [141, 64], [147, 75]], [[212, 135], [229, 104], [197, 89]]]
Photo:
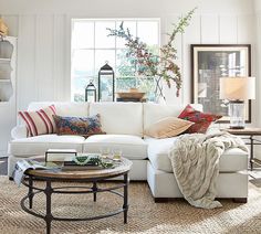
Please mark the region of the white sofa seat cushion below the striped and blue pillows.
[[9, 143], [9, 153], [18, 157], [30, 157], [43, 155], [48, 149], [75, 149], [77, 152], [82, 152], [84, 139], [81, 136], [67, 135], [41, 135], [15, 139]]

